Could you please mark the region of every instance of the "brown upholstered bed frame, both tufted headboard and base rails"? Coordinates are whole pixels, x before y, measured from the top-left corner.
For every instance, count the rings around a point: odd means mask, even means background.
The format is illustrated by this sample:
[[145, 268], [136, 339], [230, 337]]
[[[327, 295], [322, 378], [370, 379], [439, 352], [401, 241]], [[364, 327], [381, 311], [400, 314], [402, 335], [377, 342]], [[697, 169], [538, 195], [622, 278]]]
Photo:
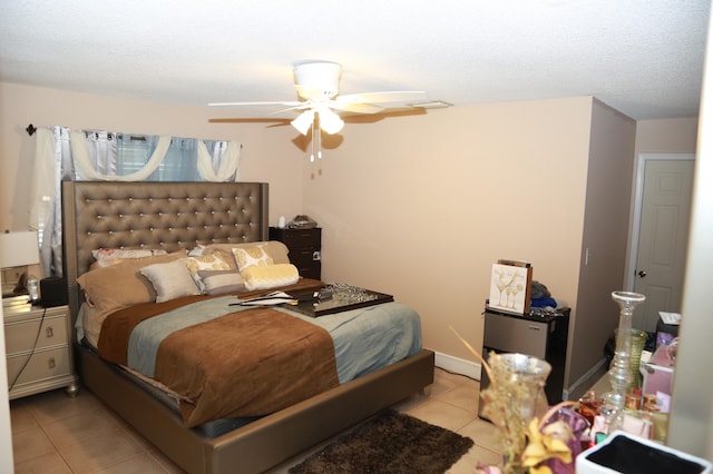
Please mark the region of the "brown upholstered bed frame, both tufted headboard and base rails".
[[[62, 182], [64, 275], [72, 324], [77, 277], [100, 247], [175, 251], [267, 239], [267, 184]], [[76, 336], [75, 336], [76, 338]], [[264, 472], [433, 382], [433, 353], [404, 361], [218, 437], [184, 426], [173, 409], [75, 340], [80, 382], [189, 473]]]

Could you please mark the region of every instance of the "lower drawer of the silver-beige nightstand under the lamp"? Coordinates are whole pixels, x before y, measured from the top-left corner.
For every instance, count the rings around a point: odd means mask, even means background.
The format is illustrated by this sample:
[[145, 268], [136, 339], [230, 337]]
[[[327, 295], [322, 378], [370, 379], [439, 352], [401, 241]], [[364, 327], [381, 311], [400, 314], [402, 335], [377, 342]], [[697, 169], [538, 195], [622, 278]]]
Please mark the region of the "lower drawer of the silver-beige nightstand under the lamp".
[[[22, 366], [27, 362], [25, 369]], [[8, 356], [8, 384], [11, 384], [14, 377], [22, 371], [20, 378], [14, 383], [14, 387], [27, 383], [37, 383], [47, 378], [69, 375], [69, 346], [56, 347], [52, 349], [37, 350], [31, 356], [21, 354]]]

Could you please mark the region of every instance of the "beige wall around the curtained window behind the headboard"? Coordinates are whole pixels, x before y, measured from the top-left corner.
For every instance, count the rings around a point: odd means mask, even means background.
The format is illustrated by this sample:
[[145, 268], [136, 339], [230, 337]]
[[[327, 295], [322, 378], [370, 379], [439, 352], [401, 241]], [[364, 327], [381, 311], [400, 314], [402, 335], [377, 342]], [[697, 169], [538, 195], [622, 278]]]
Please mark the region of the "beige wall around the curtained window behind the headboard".
[[218, 124], [224, 109], [188, 108], [159, 102], [0, 82], [0, 229], [27, 228], [27, 187], [32, 171], [32, 141], [25, 128], [61, 125], [125, 132], [172, 135], [243, 144], [241, 180], [271, 187], [270, 213], [293, 216], [301, 210], [303, 151], [292, 142], [292, 127], [265, 124]]

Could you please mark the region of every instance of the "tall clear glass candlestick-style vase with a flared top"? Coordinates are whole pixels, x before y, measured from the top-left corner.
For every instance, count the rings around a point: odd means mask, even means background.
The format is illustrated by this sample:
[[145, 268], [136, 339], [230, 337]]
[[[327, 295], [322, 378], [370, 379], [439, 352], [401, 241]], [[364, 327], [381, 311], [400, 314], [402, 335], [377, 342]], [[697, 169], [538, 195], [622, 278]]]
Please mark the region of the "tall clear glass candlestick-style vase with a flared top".
[[619, 306], [619, 326], [616, 337], [614, 361], [608, 372], [612, 389], [604, 394], [602, 414], [607, 424], [607, 432], [613, 433], [622, 425], [626, 394], [632, 385], [632, 316], [634, 309], [646, 297], [632, 292], [613, 292], [612, 299]]

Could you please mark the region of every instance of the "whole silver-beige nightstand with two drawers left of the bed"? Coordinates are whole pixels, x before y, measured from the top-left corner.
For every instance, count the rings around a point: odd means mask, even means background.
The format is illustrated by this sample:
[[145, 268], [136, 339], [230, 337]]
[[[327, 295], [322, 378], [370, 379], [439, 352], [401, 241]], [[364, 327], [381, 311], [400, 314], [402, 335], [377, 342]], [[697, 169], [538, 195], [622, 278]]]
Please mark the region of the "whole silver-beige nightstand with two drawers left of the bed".
[[3, 315], [10, 399], [60, 387], [76, 395], [69, 306], [6, 307]]

